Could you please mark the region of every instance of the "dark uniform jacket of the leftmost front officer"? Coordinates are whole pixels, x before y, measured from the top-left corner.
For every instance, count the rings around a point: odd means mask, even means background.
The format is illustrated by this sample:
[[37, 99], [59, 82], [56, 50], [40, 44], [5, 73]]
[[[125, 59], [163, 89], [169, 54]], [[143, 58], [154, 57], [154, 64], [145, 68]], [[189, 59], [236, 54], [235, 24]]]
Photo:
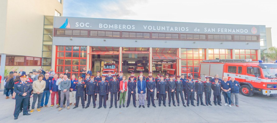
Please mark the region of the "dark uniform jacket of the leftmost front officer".
[[[30, 98], [30, 92], [32, 91], [32, 83], [25, 81], [25, 83], [19, 80], [14, 83], [14, 92], [16, 93], [15, 99]], [[22, 96], [23, 93], [27, 92], [26, 96]]]

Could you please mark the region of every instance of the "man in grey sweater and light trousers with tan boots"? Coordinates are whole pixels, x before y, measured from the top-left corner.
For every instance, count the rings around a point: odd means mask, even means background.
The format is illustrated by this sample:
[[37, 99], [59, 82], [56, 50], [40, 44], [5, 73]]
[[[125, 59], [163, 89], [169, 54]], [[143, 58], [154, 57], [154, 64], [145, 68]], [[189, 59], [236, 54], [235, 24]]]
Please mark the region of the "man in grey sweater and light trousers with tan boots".
[[[60, 88], [61, 88], [61, 103], [64, 101], [64, 97], [66, 97], [66, 105], [67, 109], [70, 109], [69, 107], [69, 88], [71, 86], [71, 80], [67, 78], [67, 75], [63, 76], [63, 79], [59, 83]], [[61, 105], [59, 108], [59, 111], [63, 109], [63, 106]]]

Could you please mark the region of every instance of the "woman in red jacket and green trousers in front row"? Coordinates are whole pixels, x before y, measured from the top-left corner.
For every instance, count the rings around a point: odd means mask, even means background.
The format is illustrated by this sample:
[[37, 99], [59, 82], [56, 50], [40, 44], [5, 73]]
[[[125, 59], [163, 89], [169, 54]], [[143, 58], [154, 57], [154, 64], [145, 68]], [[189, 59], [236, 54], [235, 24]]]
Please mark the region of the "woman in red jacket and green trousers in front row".
[[123, 76], [122, 81], [120, 81], [119, 90], [120, 90], [119, 108], [121, 108], [122, 100], [123, 100], [123, 107], [125, 107], [124, 102], [125, 102], [125, 96], [126, 96], [126, 92], [127, 92], [127, 81], [126, 81], [125, 76]]

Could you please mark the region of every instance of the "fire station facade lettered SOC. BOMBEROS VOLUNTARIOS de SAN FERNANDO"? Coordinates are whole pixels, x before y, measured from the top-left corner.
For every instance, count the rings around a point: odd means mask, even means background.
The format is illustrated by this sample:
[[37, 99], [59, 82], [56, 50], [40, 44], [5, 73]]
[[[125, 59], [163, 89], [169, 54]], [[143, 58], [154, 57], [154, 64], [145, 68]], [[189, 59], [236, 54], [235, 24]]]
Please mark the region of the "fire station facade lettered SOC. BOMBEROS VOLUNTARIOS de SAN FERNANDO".
[[264, 25], [54, 17], [52, 68], [80, 75], [109, 62], [124, 72], [137, 64], [148, 72], [154, 64], [174, 63], [175, 74], [196, 78], [202, 60], [261, 59], [265, 35]]

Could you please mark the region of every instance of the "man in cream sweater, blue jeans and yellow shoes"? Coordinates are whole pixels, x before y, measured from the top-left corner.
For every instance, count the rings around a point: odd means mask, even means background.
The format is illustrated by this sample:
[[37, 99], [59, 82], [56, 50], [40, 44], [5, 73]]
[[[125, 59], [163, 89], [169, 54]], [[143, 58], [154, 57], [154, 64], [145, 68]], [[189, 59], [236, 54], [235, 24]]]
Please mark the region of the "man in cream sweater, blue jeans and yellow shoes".
[[40, 74], [38, 76], [38, 80], [33, 82], [33, 103], [32, 103], [32, 110], [30, 111], [30, 113], [34, 112], [35, 109], [35, 102], [38, 99], [38, 106], [37, 106], [37, 111], [40, 112], [40, 103], [41, 103], [41, 99], [42, 99], [42, 93], [43, 90], [45, 89], [45, 85], [46, 82], [44, 80], [42, 80], [44, 78], [44, 75]]

